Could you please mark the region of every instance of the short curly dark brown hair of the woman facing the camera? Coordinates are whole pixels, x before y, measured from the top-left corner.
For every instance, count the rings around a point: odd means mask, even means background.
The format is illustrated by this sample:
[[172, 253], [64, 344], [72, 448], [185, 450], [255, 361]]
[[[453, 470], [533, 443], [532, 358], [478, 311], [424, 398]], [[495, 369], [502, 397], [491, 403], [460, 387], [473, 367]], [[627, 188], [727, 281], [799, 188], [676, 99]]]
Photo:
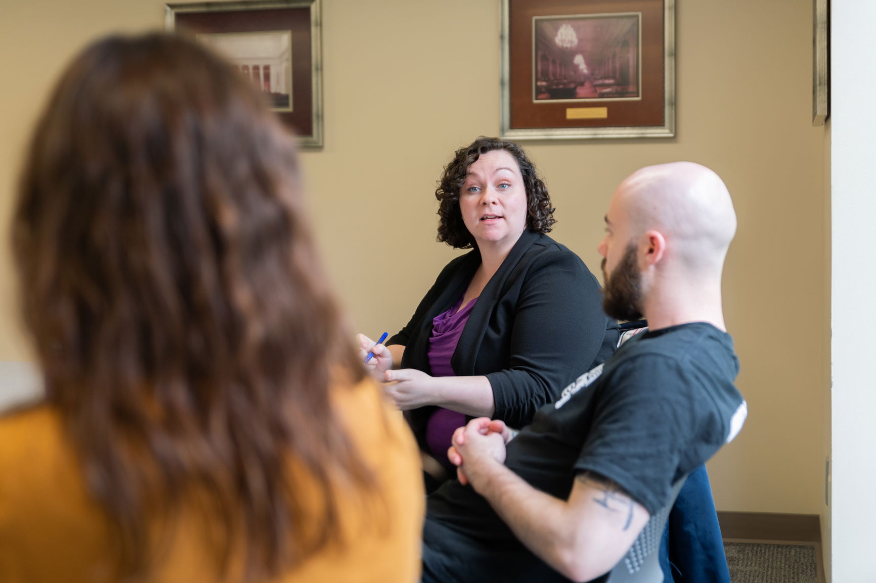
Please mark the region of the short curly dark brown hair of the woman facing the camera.
[[456, 249], [470, 249], [475, 246], [475, 238], [465, 227], [463, 214], [459, 210], [459, 191], [463, 187], [469, 166], [477, 162], [481, 154], [488, 151], [505, 150], [511, 154], [520, 167], [523, 185], [526, 187], [526, 227], [539, 233], [549, 233], [556, 222], [555, 207], [551, 207], [548, 187], [539, 178], [535, 165], [519, 145], [498, 137], [478, 137], [474, 142], [456, 151], [456, 155], [444, 168], [435, 198], [439, 200], [438, 241], [446, 242]]

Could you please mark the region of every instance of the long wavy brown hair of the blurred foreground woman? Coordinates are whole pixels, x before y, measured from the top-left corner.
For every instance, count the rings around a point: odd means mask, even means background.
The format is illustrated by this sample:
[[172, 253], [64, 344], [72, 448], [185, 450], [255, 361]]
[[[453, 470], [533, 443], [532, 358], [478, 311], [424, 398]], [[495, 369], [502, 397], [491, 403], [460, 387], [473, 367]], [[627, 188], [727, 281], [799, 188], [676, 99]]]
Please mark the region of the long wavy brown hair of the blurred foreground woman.
[[[364, 370], [298, 177], [293, 138], [194, 40], [95, 42], [39, 120], [12, 228], [25, 324], [123, 575], [193, 489], [217, 568], [244, 549], [256, 580], [335, 535], [340, 487], [374, 488], [329, 403]], [[313, 537], [290, 459], [328, 496]]]

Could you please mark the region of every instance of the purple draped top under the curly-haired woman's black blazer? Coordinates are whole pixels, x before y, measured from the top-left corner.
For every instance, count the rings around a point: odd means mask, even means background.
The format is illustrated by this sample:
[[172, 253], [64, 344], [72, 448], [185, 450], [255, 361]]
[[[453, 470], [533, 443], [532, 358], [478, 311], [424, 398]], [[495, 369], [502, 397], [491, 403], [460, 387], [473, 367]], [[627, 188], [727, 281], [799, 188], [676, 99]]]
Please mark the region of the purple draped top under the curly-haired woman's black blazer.
[[[469, 321], [472, 308], [475, 307], [477, 298], [459, 310], [463, 299], [450, 307], [445, 313], [440, 313], [432, 320], [432, 336], [429, 338], [428, 359], [432, 376], [456, 376], [453, 367], [450, 366], [450, 358], [456, 351], [456, 344], [463, 334], [465, 323]], [[457, 312], [457, 310], [459, 310]], [[453, 464], [447, 459], [447, 450], [450, 439], [457, 427], [465, 425], [465, 415], [440, 407], [432, 414], [426, 425], [426, 444], [432, 452], [435, 460], [444, 467], [453, 469]]]

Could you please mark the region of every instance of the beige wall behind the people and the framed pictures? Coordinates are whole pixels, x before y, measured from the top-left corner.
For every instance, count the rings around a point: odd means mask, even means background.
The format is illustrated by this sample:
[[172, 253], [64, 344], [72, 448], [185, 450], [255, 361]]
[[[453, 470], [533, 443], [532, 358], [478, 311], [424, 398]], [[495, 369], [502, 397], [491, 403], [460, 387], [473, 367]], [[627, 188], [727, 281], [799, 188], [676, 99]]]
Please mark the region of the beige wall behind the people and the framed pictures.
[[[326, 146], [303, 154], [314, 227], [357, 329], [392, 333], [456, 254], [434, 242], [442, 165], [498, 133], [498, 0], [323, 2]], [[163, 4], [0, 4], [0, 53], [15, 57], [0, 93], [5, 240], [22, 147], [60, 67], [96, 34], [160, 26]], [[750, 416], [710, 462], [719, 509], [815, 514], [823, 504], [825, 146], [810, 123], [807, 4], [680, 3], [678, 137], [527, 146], [558, 208], [555, 238], [594, 269], [608, 196], [635, 168], [689, 159], [730, 187], [739, 230], [724, 299]], [[0, 360], [24, 360], [10, 288], [4, 260]]]

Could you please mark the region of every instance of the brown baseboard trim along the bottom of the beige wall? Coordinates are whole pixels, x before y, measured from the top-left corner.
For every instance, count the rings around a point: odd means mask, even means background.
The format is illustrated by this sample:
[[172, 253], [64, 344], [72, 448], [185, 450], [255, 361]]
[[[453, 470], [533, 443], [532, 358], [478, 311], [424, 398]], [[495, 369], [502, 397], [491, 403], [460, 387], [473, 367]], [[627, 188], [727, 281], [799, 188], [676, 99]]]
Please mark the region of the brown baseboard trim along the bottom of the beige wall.
[[718, 511], [717, 520], [725, 539], [821, 544], [817, 514]]

